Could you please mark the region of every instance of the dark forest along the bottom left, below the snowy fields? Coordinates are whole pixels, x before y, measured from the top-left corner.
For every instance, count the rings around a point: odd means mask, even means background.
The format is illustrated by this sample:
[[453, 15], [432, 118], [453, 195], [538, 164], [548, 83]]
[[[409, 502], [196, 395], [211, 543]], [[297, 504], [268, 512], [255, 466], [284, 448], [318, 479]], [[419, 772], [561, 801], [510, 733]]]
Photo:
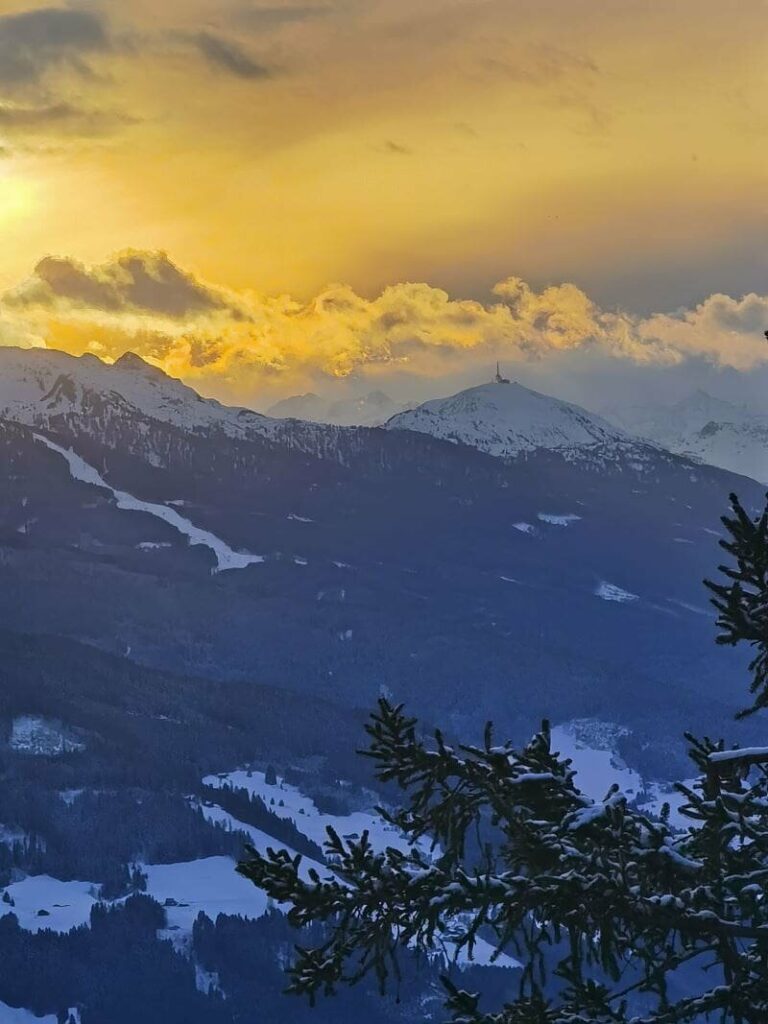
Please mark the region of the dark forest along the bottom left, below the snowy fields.
[[[309, 1007], [287, 998], [293, 944], [322, 937], [316, 926], [296, 933], [273, 911], [258, 921], [204, 914], [182, 953], [158, 938], [165, 910], [134, 895], [96, 904], [89, 926], [67, 934], [19, 928], [0, 919], [0, 1001], [82, 1024], [429, 1024], [440, 1020], [438, 970], [420, 961], [396, 995], [382, 1000], [372, 983]], [[487, 973], [487, 972], [485, 972]], [[503, 975], [507, 972], [492, 972]], [[462, 975], [464, 979], [464, 975]], [[467, 979], [469, 980], [469, 979]]]

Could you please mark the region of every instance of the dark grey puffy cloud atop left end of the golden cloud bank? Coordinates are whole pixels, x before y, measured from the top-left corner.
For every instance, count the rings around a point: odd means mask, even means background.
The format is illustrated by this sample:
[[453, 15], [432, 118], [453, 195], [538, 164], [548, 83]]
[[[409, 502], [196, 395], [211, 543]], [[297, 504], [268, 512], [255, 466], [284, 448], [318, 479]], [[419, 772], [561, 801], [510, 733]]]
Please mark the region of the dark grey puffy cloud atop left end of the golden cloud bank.
[[[31, 280], [5, 296], [8, 305], [70, 303], [106, 312], [141, 311], [166, 316], [226, 308], [223, 295], [180, 269], [165, 253], [126, 252], [87, 267], [74, 259], [47, 256]], [[230, 310], [237, 317], [237, 310]]]

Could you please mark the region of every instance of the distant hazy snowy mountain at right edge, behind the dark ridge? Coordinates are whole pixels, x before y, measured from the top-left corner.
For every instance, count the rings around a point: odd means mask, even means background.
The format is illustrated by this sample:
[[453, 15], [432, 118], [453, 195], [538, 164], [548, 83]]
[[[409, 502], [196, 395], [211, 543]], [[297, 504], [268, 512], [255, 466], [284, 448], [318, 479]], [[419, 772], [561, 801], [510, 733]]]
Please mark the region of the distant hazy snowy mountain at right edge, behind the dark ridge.
[[768, 483], [768, 415], [706, 391], [674, 406], [630, 406], [606, 415], [671, 452]]

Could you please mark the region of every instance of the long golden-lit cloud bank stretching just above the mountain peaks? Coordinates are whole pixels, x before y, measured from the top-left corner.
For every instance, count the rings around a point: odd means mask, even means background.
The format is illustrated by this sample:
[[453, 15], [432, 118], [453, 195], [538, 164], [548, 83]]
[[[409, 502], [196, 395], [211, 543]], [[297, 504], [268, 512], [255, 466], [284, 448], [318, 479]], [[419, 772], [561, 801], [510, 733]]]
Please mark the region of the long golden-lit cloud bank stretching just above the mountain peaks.
[[[501, 358], [526, 373], [579, 355], [673, 368], [686, 360], [768, 366], [768, 296], [713, 295], [694, 309], [641, 317], [605, 310], [573, 284], [537, 291], [517, 276], [489, 301], [402, 283], [374, 298], [333, 285], [309, 302], [208, 284], [164, 253], [98, 266], [46, 257], [0, 303], [5, 335], [117, 358], [134, 350], [218, 397], [251, 402], [307, 382], [458, 377]], [[474, 368], [474, 370], [473, 370]]]

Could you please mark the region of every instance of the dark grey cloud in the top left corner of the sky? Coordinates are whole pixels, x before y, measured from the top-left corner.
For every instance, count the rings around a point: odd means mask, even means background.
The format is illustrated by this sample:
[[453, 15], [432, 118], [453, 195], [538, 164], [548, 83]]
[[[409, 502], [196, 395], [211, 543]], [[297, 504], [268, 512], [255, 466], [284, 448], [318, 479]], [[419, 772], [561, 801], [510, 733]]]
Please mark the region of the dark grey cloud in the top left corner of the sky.
[[85, 70], [83, 56], [110, 48], [100, 17], [86, 10], [40, 7], [0, 16], [0, 84], [35, 84], [51, 68]]

